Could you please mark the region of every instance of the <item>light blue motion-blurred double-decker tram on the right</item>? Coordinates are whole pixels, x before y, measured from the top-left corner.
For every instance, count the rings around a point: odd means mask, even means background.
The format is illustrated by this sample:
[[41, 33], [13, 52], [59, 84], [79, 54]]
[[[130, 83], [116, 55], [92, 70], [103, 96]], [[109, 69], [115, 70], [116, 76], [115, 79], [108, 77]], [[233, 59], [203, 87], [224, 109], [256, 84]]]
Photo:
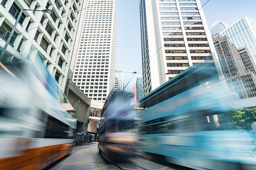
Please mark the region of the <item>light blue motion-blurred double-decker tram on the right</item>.
[[244, 137], [249, 132], [235, 130], [227, 116], [237, 100], [220, 86], [215, 70], [183, 71], [139, 101], [141, 151], [195, 169], [253, 164], [247, 150], [251, 139]]

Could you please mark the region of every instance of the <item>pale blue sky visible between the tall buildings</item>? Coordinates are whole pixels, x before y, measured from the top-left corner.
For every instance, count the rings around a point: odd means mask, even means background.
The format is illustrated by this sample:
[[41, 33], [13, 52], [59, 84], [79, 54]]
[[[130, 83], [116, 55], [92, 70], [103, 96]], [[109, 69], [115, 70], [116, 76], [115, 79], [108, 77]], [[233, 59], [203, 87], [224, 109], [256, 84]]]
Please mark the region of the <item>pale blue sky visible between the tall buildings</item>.
[[[255, 0], [207, 1], [200, 2], [202, 6], [206, 3], [203, 11], [209, 30], [217, 20], [225, 22], [228, 26], [245, 16], [256, 20]], [[133, 84], [136, 83], [137, 77], [142, 77], [139, 0], [116, 0], [116, 9], [118, 21], [116, 69], [123, 69], [124, 85], [132, 78], [133, 72], [137, 72], [125, 88], [125, 91], [133, 92]]]

